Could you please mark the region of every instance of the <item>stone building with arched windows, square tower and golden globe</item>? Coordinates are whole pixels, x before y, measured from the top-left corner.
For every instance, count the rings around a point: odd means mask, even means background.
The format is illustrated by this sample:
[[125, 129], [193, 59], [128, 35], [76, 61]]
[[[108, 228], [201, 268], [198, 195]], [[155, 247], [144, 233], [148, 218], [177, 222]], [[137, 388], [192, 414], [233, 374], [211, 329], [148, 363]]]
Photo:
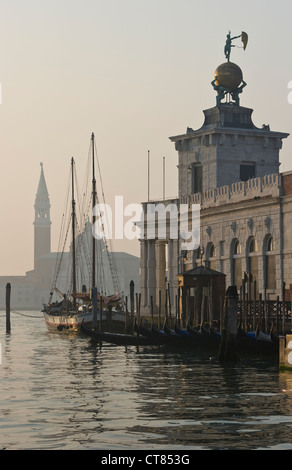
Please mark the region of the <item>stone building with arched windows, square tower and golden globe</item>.
[[243, 279], [252, 280], [250, 298], [290, 300], [292, 172], [279, 173], [279, 152], [289, 134], [254, 125], [253, 110], [239, 105], [242, 84], [240, 68], [229, 60], [222, 64], [212, 82], [216, 106], [204, 111], [202, 127], [170, 137], [178, 152], [178, 199], [163, 204], [176, 204], [178, 212], [181, 204], [200, 205], [200, 246], [182, 250], [181, 239], [151, 239], [145, 230], [140, 240], [145, 313], [151, 301], [156, 312], [159, 303], [164, 308], [166, 288], [174, 312], [178, 276], [201, 265], [223, 273], [226, 288], [235, 285], [238, 293]]

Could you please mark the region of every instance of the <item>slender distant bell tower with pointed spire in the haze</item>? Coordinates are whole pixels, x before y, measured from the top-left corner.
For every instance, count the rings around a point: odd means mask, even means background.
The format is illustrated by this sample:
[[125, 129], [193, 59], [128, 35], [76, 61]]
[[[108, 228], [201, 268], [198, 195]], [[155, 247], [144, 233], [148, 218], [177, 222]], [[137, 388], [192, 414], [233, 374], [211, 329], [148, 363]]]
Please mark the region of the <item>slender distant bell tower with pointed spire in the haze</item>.
[[37, 259], [51, 252], [50, 198], [44, 176], [43, 164], [35, 198], [34, 218], [34, 267]]

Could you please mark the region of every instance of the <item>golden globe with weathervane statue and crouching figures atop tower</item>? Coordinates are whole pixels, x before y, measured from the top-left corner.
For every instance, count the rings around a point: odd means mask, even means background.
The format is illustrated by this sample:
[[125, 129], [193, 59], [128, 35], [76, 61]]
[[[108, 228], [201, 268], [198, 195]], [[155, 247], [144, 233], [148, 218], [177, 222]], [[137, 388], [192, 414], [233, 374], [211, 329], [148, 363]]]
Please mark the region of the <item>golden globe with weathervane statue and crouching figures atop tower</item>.
[[214, 74], [214, 80], [211, 82], [214, 90], [217, 91], [217, 106], [220, 106], [224, 99], [227, 103], [239, 106], [239, 95], [246, 86], [246, 83], [243, 80], [241, 68], [237, 64], [230, 62], [231, 48], [235, 47], [235, 45], [232, 44], [232, 41], [237, 38], [241, 38], [243, 43], [242, 47], [245, 50], [248, 42], [248, 35], [243, 31], [240, 35], [231, 37], [229, 32], [227, 34], [224, 48], [227, 62], [224, 62], [217, 67]]

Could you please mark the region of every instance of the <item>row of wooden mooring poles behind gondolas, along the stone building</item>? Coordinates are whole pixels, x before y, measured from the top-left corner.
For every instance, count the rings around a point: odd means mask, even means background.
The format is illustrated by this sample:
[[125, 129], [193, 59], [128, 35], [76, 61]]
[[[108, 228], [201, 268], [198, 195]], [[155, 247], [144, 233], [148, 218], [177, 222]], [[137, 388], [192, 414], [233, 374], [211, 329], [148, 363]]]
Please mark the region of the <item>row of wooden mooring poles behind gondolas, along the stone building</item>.
[[[128, 311], [126, 298], [127, 332], [132, 331], [135, 316], [136, 321], [140, 321], [142, 319], [140, 313], [141, 294], [135, 293], [134, 289], [134, 282], [131, 281], [130, 312]], [[186, 323], [190, 317], [187, 315], [187, 312], [184, 311], [180, 298], [180, 290], [178, 289], [178, 292], [175, 295], [174, 305], [171, 304], [169, 286], [166, 287], [164, 297], [165, 303], [162, 305], [162, 292], [159, 291], [157, 313], [154, 311], [154, 299], [151, 297], [149, 315], [144, 315], [143, 320], [155, 323], [159, 328], [163, 326], [165, 319], [167, 319], [170, 326], [174, 325], [176, 322], [177, 324], [180, 324], [181, 327], [186, 327]], [[218, 304], [212, 305], [210, 292], [207, 288], [204, 288], [201, 295], [201, 305], [197, 305], [197, 302], [194, 302], [194, 315], [193, 318], [191, 318], [194, 326], [206, 322], [210, 325], [216, 326], [216, 328], [218, 328], [222, 333], [225, 302], [226, 298], [224, 298], [224, 295], [221, 295]], [[214, 316], [213, 311], [215, 310], [216, 315]], [[216, 317], [215, 321], [213, 317]], [[214, 323], [216, 323], [216, 325]], [[251, 289], [250, 285], [249, 288], [247, 288], [247, 283], [243, 280], [240, 293], [237, 296], [237, 324], [246, 332], [258, 328], [266, 334], [269, 334], [271, 330], [273, 330], [275, 334], [280, 335], [289, 333], [292, 331], [291, 302], [280, 300], [279, 296], [277, 296], [275, 300], [267, 300], [261, 293], [257, 295], [256, 282], [253, 283], [253, 289]]]

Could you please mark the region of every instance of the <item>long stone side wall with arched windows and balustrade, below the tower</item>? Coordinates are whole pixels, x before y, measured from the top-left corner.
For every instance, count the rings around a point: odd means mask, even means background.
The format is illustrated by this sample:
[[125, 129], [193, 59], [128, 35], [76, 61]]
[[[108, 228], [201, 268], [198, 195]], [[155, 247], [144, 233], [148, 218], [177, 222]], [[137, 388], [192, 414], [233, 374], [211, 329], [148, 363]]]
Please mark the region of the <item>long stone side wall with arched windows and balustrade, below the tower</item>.
[[[213, 269], [226, 274], [227, 285], [237, 285], [244, 273], [253, 274], [257, 292], [270, 297], [281, 292], [281, 181], [283, 175], [269, 175], [236, 183], [214, 191], [201, 199], [201, 246], [204, 260]], [[190, 197], [190, 200], [196, 200]], [[268, 252], [274, 241], [273, 254]], [[253, 247], [251, 242], [255, 240]], [[238, 245], [238, 246], [237, 246]], [[212, 250], [211, 250], [212, 248]], [[213, 256], [210, 258], [210, 254]], [[185, 269], [196, 263], [196, 253], [185, 262]], [[267, 288], [266, 257], [275, 256], [275, 279]], [[254, 260], [252, 260], [254, 258]], [[257, 261], [257, 269], [255, 267]], [[235, 265], [240, 265], [239, 279]]]

